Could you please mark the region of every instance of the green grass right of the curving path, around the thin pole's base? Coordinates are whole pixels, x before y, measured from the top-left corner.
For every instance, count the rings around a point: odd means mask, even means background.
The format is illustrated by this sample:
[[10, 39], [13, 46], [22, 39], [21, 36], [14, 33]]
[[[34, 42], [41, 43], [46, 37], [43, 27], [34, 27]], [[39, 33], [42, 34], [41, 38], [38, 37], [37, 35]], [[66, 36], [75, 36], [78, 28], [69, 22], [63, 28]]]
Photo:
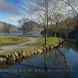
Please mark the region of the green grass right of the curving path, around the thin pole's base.
[[[57, 46], [59, 42], [61, 42], [62, 39], [58, 37], [48, 37], [47, 38], [47, 45], [46, 46]], [[44, 38], [39, 38], [35, 43], [31, 44], [32, 46], [43, 46], [45, 44], [45, 39]]]

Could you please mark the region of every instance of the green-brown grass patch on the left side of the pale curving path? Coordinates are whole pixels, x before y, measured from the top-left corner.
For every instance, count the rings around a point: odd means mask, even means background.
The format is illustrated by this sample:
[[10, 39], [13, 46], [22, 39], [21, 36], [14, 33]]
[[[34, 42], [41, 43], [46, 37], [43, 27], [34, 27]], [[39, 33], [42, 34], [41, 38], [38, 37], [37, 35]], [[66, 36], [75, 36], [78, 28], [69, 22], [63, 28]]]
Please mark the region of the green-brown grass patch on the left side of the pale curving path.
[[15, 45], [22, 42], [27, 41], [27, 39], [23, 37], [16, 37], [16, 36], [0, 36], [0, 46], [3, 45]]

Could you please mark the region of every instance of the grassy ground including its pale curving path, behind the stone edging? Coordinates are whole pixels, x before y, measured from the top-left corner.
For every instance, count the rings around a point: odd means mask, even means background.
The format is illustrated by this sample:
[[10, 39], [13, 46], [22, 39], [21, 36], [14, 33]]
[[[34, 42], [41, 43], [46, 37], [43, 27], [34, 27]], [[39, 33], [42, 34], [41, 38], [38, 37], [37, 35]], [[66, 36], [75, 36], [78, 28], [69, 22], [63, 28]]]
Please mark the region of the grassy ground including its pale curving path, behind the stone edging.
[[[48, 37], [46, 46], [57, 46], [62, 39], [57, 37]], [[20, 47], [19, 47], [20, 44]], [[22, 45], [21, 45], [22, 44]], [[8, 46], [7, 46], [8, 45]], [[14, 45], [14, 46], [11, 46]], [[24, 51], [32, 52], [34, 48], [38, 49], [44, 46], [44, 38], [27, 38], [27, 37], [17, 37], [17, 36], [0, 36], [0, 46], [1, 48], [0, 54], [7, 54], [12, 52], [20, 52], [21, 47], [24, 47]], [[17, 47], [17, 48], [16, 48]], [[11, 50], [12, 49], [12, 50]], [[8, 51], [8, 52], [7, 52]], [[12, 51], [12, 52], [11, 52]]]

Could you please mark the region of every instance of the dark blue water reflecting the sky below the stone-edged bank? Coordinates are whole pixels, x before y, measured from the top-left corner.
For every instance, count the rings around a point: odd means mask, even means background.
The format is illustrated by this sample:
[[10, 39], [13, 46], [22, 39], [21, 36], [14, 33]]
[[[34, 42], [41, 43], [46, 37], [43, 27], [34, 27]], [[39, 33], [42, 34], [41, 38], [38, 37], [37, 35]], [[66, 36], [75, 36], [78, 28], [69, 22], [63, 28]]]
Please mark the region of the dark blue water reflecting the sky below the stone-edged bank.
[[[68, 72], [61, 70], [65, 67], [64, 57], [58, 50], [53, 50], [46, 55], [45, 60], [44, 54], [36, 55], [23, 60], [20, 64], [0, 69], [0, 78], [78, 78], [78, 51], [73, 47], [59, 50], [68, 62]], [[44, 70], [45, 65], [47, 71]]]

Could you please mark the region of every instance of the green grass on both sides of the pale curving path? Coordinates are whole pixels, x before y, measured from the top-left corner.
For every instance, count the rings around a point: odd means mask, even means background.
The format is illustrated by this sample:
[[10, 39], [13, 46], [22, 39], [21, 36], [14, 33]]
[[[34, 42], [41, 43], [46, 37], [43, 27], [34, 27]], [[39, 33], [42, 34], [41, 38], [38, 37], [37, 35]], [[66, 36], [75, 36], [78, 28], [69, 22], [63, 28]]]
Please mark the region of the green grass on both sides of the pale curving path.
[[[47, 38], [47, 45], [53, 45], [56, 46], [59, 44], [59, 42], [61, 41], [61, 38], [57, 38], [57, 37], [48, 37]], [[17, 36], [0, 36], [0, 45], [15, 45], [15, 44], [19, 44], [19, 43], [23, 43], [28, 41], [27, 38], [24, 37], [17, 37]], [[42, 46], [44, 45], [45, 39], [44, 38], [38, 38], [37, 41], [35, 41], [33, 44], [31, 43], [30, 45], [32, 46]]]

